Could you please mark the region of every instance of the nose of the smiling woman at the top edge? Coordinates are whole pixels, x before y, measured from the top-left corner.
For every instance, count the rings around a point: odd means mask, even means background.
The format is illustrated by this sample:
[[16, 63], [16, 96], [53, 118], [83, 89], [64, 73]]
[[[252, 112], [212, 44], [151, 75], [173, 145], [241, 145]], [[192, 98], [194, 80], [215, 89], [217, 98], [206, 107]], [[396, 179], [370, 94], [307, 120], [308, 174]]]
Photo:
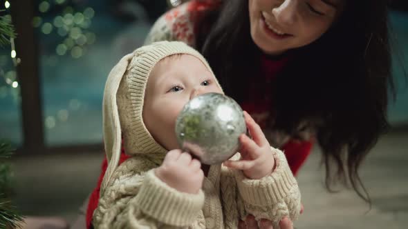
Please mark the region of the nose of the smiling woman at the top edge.
[[277, 23], [292, 25], [297, 19], [297, 0], [284, 0], [272, 8]]

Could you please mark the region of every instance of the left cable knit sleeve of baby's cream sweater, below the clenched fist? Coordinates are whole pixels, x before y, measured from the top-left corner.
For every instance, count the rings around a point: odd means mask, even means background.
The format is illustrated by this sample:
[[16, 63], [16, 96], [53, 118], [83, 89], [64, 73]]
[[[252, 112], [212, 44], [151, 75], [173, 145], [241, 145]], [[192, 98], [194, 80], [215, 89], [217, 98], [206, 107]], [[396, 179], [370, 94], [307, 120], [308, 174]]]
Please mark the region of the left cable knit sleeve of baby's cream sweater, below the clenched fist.
[[204, 203], [202, 190], [197, 195], [178, 192], [158, 179], [154, 169], [129, 172], [131, 165], [126, 162], [100, 198], [93, 215], [95, 228], [187, 228], [194, 224]]

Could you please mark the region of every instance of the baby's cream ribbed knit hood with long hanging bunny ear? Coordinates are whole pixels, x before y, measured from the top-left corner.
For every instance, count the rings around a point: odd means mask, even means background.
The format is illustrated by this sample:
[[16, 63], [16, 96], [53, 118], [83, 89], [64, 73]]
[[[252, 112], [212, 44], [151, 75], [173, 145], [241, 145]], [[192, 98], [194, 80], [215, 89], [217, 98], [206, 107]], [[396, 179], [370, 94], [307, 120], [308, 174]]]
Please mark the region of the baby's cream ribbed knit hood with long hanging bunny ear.
[[212, 72], [194, 48], [180, 41], [160, 41], [127, 54], [109, 73], [103, 100], [104, 148], [109, 166], [102, 180], [101, 195], [118, 166], [121, 137], [128, 155], [145, 154], [160, 160], [167, 152], [146, 129], [142, 110], [151, 70], [158, 61], [173, 54], [190, 54]]

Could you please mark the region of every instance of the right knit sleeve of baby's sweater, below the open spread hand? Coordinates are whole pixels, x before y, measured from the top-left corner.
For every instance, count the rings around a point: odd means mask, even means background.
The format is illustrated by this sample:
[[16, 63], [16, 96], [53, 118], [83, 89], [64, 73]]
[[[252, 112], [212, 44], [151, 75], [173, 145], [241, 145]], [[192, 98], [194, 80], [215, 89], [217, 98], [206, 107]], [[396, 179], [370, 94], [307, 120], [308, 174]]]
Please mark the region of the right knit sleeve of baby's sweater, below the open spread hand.
[[246, 215], [255, 219], [269, 219], [276, 226], [283, 217], [295, 221], [301, 208], [297, 181], [286, 161], [284, 152], [272, 148], [276, 168], [262, 179], [248, 179], [242, 171], [233, 170], [239, 196], [243, 199]]

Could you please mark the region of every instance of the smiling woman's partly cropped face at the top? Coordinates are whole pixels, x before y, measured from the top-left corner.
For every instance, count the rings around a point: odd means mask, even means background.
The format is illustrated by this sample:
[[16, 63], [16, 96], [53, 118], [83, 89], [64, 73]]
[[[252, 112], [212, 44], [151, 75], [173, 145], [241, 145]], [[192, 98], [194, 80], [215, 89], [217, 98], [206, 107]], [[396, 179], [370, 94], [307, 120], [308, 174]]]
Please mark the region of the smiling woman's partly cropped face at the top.
[[248, 2], [252, 40], [267, 54], [281, 54], [312, 43], [330, 28], [344, 8], [342, 0]]

